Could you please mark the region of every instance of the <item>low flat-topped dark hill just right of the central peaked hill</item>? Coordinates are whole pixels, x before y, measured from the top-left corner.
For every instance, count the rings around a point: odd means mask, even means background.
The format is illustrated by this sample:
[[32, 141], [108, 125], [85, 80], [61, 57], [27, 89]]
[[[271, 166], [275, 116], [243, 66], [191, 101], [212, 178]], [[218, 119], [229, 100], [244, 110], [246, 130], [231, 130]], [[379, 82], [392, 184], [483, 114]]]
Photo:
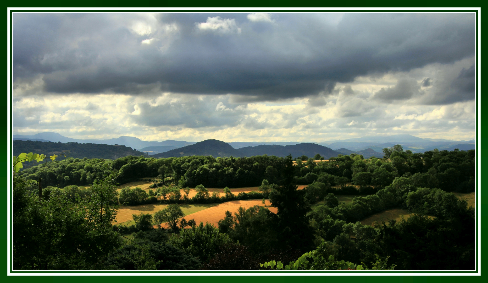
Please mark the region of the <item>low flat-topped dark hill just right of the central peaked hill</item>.
[[306, 155], [313, 157], [319, 153], [326, 159], [329, 157], [337, 156], [340, 152], [335, 152], [325, 146], [321, 146], [313, 143], [302, 143], [297, 145], [279, 146], [279, 145], [259, 145], [257, 147], [245, 147], [238, 149], [242, 156], [254, 156], [254, 155], [275, 155], [278, 157], [285, 157], [290, 154], [293, 157], [299, 157]]

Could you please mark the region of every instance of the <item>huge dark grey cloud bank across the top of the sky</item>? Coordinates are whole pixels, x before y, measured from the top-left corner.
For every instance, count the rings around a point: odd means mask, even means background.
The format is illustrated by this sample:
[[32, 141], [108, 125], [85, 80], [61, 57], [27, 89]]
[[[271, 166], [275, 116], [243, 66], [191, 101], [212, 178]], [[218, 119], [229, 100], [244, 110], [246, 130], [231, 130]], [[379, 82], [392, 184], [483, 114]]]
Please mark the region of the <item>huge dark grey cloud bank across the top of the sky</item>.
[[[235, 19], [240, 32], [198, 30], [199, 22], [216, 16]], [[53, 93], [171, 91], [275, 100], [474, 54], [474, 14], [345, 14], [336, 26], [327, 14], [276, 13], [274, 22], [246, 16], [156, 14], [151, 22], [138, 14], [16, 13], [14, 80], [42, 74]], [[149, 22], [151, 32], [134, 32], [134, 22]], [[456, 84], [468, 86], [461, 77]], [[383, 96], [408, 96], [391, 95]]]

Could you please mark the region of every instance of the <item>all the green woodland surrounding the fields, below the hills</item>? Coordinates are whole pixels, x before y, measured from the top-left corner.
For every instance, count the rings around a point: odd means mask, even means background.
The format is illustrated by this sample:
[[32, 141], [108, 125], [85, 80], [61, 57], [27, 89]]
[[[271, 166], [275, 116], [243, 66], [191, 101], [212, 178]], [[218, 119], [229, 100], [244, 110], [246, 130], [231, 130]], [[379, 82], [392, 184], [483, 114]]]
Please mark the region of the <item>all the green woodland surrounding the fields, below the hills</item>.
[[[118, 180], [139, 178], [152, 172], [172, 177], [173, 182], [184, 188], [196, 182], [192, 177], [205, 166], [209, 171], [215, 169], [213, 172], [230, 172], [227, 174], [231, 182], [239, 170], [250, 171], [253, 167], [246, 167], [249, 164], [259, 168], [252, 171], [261, 178], [259, 194], [267, 195], [271, 205], [278, 209], [276, 214], [262, 206], [241, 207], [234, 215], [226, 212], [218, 227], [191, 223], [191, 229], [183, 230], [191, 219], [187, 222], [178, 211], [174, 218], [170, 218], [169, 209], [157, 213], [161, 218], [155, 214], [156, 219], [151, 215], [135, 215], [134, 239], [125, 243], [119, 235], [126, 233], [126, 229], [111, 226], [119, 202], [154, 197], [145, 196], [137, 189], [124, 189], [117, 195], [114, 185]], [[89, 189], [72, 185], [55, 189], [41, 199], [29, 192], [36, 187], [32, 181], [36, 180], [35, 174], [43, 169], [66, 174], [75, 169], [85, 171], [86, 165], [92, 167], [90, 173], [99, 174], [98, 182]], [[68, 166], [72, 167], [70, 171]], [[128, 156], [114, 161], [67, 159], [37, 167], [35, 172], [34, 167], [24, 170], [22, 176], [27, 179], [14, 176], [13, 263], [16, 269], [262, 269], [260, 263], [286, 264], [311, 250], [310, 256], [337, 259], [323, 262], [321, 268], [355, 268], [365, 262], [362, 265], [365, 268], [372, 269], [379, 264], [387, 269], [386, 262], [377, 261], [386, 257], [389, 257], [388, 264], [396, 265], [395, 269], [474, 268], [474, 209], [447, 192], [474, 190], [474, 184], [468, 187], [474, 174], [474, 151], [415, 155], [397, 147], [389, 159], [365, 160], [361, 155], [351, 154], [317, 164], [311, 159], [294, 164], [291, 156], [220, 159]], [[457, 178], [448, 182], [446, 174]], [[304, 190], [297, 190], [298, 181], [310, 184]], [[354, 197], [348, 204], [340, 203], [330, 192], [351, 190], [346, 186], [347, 181], [353, 181], [363, 192], [373, 190], [374, 193]], [[196, 186], [195, 199], [209, 201], [214, 196], [203, 184]], [[170, 205], [174, 208], [187, 196], [184, 190], [181, 195], [180, 188], [153, 189], [152, 195], [166, 194], [167, 201], [175, 203]], [[224, 190], [224, 198], [239, 197], [231, 196], [230, 191]], [[139, 200], [138, 194], [141, 194]], [[188, 196], [187, 200], [190, 201]], [[316, 202], [319, 205], [312, 210], [311, 204]], [[394, 207], [414, 214], [399, 222], [391, 220], [375, 226], [359, 222]], [[171, 229], [153, 228], [162, 219], [172, 223]], [[375, 261], [376, 266], [370, 263]]]

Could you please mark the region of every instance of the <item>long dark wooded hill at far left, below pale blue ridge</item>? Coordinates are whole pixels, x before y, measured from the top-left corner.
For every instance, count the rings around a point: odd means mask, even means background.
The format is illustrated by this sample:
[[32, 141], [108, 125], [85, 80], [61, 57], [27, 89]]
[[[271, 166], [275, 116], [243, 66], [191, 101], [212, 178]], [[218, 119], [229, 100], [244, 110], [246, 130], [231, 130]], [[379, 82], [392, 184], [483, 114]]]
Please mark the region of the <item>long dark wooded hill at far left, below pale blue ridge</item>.
[[[124, 156], [148, 156], [147, 154], [133, 150], [132, 148], [122, 145], [103, 145], [77, 142], [61, 143], [61, 142], [41, 142], [30, 140], [14, 140], [13, 144], [14, 155], [19, 155], [21, 152], [34, 152], [45, 155], [60, 154], [63, 152], [67, 157], [74, 158], [103, 158], [103, 159], [117, 159]], [[57, 160], [64, 159], [64, 156], [59, 156]], [[49, 158], [47, 158], [49, 159]]]

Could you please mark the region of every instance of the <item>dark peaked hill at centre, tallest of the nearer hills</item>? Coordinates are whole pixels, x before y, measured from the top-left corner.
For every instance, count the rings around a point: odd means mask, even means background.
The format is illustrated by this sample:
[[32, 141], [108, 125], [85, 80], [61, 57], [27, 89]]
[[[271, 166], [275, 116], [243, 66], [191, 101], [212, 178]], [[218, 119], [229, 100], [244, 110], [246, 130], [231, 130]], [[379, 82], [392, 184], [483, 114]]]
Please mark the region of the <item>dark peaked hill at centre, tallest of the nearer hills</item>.
[[241, 152], [239, 152], [238, 150], [236, 150], [226, 142], [216, 140], [216, 139], [207, 139], [193, 145], [170, 150], [167, 152], [153, 154], [151, 155], [151, 157], [167, 158], [167, 157], [180, 157], [180, 156], [193, 156], [193, 155], [203, 155], [203, 156], [212, 155], [213, 157], [244, 156]]

